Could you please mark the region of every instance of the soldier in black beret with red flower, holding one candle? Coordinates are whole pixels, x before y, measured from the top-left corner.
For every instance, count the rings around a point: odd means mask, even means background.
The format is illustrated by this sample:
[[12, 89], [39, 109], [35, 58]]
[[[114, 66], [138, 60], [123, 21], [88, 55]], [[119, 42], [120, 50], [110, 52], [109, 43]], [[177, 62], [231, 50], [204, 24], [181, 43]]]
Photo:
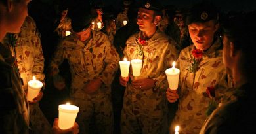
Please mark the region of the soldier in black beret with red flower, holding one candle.
[[[220, 38], [215, 36], [219, 28], [216, 8], [209, 3], [194, 5], [186, 24], [193, 44], [181, 50], [178, 59], [181, 71], [179, 92], [167, 89], [170, 103], [179, 99], [171, 133], [174, 133], [177, 125], [181, 126], [182, 133], [199, 133], [207, 115], [217, 107], [224, 89], [228, 88], [222, 44]], [[209, 91], [213, 94], [207, 94]]]

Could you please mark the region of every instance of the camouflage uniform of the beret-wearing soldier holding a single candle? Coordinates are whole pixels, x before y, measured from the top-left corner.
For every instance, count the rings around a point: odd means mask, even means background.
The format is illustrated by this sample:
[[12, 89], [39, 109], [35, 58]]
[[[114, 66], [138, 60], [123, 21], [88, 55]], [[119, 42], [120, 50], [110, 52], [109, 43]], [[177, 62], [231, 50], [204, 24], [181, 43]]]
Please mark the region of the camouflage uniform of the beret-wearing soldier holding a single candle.
[[224, 89], [228, 88], [225, 69], [222, 59], [221, 40], [214, 44], [203, 54], [199, 69], [196, 73], [190, 73], [187, 69], [192, 60], [193, 45], [184, 48], [178, 59], [181, 70], [179, 78], [179, 107], [175, 119], [171, 125], [174, 132], [176, 125], [181, 126], [181, 133], [199, 133], [200, 128], [207, 118], [205, 114], [211, 101], [206, 93], [207, 87], [215, 88], [215, 100], [224, 95]]

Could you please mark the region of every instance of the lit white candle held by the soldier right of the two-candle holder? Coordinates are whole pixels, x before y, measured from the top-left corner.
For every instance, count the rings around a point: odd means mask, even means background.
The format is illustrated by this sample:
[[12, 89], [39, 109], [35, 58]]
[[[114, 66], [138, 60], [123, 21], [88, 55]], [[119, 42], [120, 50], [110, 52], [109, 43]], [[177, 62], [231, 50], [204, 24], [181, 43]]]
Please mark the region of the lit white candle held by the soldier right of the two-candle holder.
[[173, 61], [173, 67], [166, 69], [165, 74], [167, 76], [169, 88], [171, 90], [177, 90], [179, 84], [180, 69], [175, 68], [175, 61]]

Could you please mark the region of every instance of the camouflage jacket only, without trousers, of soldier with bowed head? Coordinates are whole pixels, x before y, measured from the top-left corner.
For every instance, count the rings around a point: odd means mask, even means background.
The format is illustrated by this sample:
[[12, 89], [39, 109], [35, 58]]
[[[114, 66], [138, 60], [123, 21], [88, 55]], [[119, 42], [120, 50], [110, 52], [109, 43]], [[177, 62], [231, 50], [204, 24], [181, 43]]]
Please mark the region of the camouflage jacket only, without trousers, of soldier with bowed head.
[[100, 91], [110, 94], [110, 85], [118, 69], [119, 56], [108, 37], [100, 31], [91, 31], [91, 38], [84, 44], [77, 35], [66, 37], [60, 44], [51, 61], [51, 69], [57, 69], [68, 59], [72, 74], [71, 95], [83, 99], [83, 87], [90, 80], [100, 78]]

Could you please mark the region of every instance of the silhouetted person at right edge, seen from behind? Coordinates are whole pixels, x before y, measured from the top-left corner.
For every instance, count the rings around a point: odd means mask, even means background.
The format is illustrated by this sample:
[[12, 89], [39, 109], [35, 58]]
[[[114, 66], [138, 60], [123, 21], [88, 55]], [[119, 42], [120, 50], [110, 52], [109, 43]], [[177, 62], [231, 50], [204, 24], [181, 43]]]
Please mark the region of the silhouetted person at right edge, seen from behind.
[[200, 133], [256, 133], [255, 13], [240, 14], [224, 23], [223, 62], [233, 76], [236, 99], [216, 109]]

